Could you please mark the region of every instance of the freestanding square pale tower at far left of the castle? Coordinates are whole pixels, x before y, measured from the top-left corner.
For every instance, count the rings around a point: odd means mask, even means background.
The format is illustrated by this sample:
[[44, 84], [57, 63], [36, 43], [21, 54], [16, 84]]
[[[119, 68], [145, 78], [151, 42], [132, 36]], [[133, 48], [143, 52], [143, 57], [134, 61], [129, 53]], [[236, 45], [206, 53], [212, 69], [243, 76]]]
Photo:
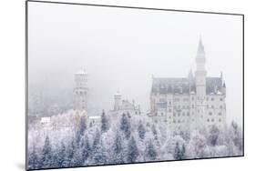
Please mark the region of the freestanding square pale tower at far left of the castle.
[[87, 110], [87, 73], [80, 70], [75, 74], [74, 108], [79, 111]]

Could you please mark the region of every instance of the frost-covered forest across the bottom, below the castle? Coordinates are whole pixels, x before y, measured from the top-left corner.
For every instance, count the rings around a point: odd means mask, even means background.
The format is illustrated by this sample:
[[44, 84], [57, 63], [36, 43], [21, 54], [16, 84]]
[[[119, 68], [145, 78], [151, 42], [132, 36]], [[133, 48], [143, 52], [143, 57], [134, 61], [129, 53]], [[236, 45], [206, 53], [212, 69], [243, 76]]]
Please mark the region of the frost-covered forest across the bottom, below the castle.
[[[70, 122], [73, 113], [53, 116], [52, 122]], [[242, 137], [235, 122], [172, 134], [148, 116], [103, 111], [97, 124], [80, 116], [77, 126], [30, 127], [28, 169], [241, 156]]]

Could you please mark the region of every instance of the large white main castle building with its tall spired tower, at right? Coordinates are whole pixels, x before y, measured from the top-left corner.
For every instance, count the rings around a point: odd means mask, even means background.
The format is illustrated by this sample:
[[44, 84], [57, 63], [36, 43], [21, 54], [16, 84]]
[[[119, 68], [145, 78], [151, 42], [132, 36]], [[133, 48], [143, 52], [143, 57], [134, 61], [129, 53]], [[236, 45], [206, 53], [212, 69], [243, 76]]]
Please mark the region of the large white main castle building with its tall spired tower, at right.
[[204, 46], [200, 40], [195, 75], [188, 77], [153, 77], [150, 94], [155, 123], [174, 132], [201, 126], [226, 124], [226, 85], [220, 77], [207, 76]]

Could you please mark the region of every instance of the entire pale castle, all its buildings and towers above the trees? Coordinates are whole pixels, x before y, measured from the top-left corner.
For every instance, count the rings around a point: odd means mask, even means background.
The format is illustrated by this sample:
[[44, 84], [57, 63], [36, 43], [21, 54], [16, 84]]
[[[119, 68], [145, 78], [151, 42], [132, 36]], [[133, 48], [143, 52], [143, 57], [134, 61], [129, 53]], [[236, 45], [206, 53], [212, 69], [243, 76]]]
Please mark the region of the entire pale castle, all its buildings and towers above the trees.
[[[206, 57], [201, 39], [196, 55], [196, 71], [187, 77], [153, 77], [150, 93], [150, 113], [147, 115], [159, 126], [170, 132], [179, 133], [201, 126], [226, 125], [226, 85], [220, 77], [207, 76]], [[100, 123], [101, 116], [87, 116], [87, 73], [80, 70], [75, 74], [74, 111], [76, 116], [86, 116], [88, 124]], [[141, 115], [134, 100], [122, 100], [114, 95], [114, 107], [110, 116], [128, 113]], [[76, 119], [75, 119], [76, 120]], [[50, 120], [43, 118], [42, 123]], [[78, 120], [76, 121], [78, 122]]]

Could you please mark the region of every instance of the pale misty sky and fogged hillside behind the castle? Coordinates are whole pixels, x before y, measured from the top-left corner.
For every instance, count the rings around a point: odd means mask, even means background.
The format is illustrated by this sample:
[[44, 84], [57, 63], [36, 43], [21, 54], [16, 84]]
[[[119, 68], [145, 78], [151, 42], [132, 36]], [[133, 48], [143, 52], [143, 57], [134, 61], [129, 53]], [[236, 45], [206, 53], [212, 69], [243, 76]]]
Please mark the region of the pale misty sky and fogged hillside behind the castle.
[[[113, 95], [149, 109], [152, 75], [195, 71], [200, 35], [208, 76], [227, 85], [228, 122], [242, 118], [242, 18], [29, 2], [29, 89], [72, 98], [74, 73], [88, 74], [88, 107], [113, 108]], [[65, 93], [63, 93], [65, 92]]]

